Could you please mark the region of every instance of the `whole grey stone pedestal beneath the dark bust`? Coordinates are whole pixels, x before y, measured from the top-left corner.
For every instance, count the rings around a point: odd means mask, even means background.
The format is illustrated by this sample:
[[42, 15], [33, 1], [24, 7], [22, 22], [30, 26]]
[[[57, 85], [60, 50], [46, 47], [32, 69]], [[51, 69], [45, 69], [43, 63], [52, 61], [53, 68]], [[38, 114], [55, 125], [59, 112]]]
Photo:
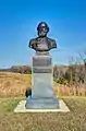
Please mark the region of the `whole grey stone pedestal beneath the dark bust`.
[[26, 108], [59, 108], [59, 100], [53, 93], [53, 71], [51, 57], [33, 57], [32, 99], [27, 98]]

